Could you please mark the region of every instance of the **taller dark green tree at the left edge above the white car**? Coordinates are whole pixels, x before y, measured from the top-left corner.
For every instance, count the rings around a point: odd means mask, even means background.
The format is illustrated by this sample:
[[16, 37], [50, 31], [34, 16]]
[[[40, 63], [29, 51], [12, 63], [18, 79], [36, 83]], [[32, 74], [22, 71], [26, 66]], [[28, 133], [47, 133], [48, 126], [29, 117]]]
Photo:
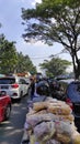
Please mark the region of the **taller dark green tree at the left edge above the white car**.
[[0, 35], [0, 73], [13, 73], [18, 63], [18, 54], [14, 42], [5, 40]]

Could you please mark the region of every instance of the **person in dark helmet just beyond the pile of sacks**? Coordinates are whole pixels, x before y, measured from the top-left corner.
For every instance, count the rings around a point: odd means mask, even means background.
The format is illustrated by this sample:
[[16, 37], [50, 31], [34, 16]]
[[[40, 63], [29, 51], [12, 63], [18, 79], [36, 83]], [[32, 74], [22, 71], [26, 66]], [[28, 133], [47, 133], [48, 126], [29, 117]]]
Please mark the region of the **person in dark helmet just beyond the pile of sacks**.
[[34, 92], [31, 92], [31, 100], [28, 99], [27, 101], [27, 112], [33, 107], [33, 103], [44, 102], [49, 96], [49, 84], [46, 81], [39, 81], [38, 83], [35, 82]]

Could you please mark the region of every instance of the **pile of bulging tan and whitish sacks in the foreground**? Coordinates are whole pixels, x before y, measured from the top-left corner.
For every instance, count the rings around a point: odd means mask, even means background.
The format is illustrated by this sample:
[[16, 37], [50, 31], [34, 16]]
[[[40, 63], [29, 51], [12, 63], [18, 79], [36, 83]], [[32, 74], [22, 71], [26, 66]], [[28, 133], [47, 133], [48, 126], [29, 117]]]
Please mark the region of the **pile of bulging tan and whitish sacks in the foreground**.
[[30, 144], [80, 144], [71, 113], [69, 105], [52, 97], [33, 103], [25, 121]]

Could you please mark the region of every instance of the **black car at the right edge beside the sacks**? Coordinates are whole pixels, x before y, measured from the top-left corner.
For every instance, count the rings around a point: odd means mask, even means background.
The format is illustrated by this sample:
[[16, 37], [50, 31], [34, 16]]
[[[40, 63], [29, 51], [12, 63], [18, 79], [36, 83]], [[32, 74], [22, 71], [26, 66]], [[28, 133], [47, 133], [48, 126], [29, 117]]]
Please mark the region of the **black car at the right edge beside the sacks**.
[[80, 132], [80, 81], [60, 80], [59, 83], [65, 95], [65, 101], [72, 109], [75, 123]]

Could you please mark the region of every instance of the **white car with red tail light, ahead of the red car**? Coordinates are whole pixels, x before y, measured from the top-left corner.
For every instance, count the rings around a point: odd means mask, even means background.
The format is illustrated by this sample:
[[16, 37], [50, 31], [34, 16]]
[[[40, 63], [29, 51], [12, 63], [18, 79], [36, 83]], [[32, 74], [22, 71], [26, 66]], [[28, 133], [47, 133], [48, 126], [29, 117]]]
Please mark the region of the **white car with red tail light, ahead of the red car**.
[[25, 78], [12, 75], [0, 78], [0, 91], [5, 91], [12, 99], [21, 99], [28, 92]]

